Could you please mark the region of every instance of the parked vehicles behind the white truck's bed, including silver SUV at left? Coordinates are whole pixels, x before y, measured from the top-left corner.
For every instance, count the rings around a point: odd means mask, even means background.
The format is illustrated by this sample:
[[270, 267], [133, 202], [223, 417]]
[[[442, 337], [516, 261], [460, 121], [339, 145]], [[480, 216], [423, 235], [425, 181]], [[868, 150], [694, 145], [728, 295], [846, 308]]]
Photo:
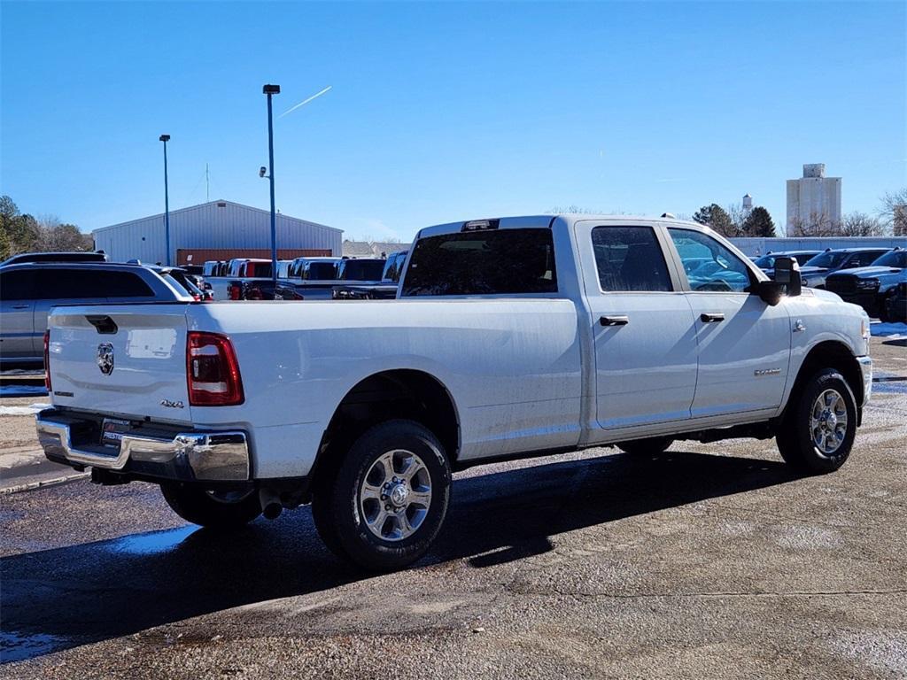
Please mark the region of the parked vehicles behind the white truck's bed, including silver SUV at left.
[[102, 252], [27, 253], [0, 263], [0, 360], [44, 360], [44, 330], [54, 306], [106, 302], [393, 298], [406, 252], [382, 258], [238, 258], [203, 266], [109, 262]]

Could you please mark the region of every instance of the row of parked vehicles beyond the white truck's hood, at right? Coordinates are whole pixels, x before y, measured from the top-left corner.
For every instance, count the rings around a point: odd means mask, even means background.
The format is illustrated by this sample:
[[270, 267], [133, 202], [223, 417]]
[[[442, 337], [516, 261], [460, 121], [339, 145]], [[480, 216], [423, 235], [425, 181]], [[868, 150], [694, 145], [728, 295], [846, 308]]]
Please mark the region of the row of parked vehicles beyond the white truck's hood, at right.
[[907, 249], [839, 248], [769, 252], [756, 267], [775, 277], [775, 259], [793, 257], [803, 285], [824, 288], [883, 321], [907, 321]]

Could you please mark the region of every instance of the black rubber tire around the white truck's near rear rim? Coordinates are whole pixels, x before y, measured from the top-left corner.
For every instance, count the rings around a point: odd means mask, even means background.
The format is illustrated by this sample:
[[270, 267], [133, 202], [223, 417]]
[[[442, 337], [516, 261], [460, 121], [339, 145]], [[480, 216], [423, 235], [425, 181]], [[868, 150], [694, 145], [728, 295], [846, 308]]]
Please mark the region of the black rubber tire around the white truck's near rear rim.
[[[427, 475], [422, 479], [429, 481], [431, 499], [427, 501], [427, 510], [417, 510], [420, 523], [412, 534], [385, 539], [375, 533], [381, 527], [373, 524], [376, 529], [369, 528], [366, 517], [367, 503], [377, 502], [380, 513], [380, 503], [385, 501], [362, 500], [360, 489], [366, 475], [379, 465], [379, 459], [395, 450], [413, 453], [423, 463], [420, 474]], [[402, 458], [405, 463], [406, 457]], [[450, 463], [441, 442], [419, 423], [393, 420], [375, 425], [356, 440], [338, 464], [325, 468], [322, 474], [313, 490], [312, 516], [327, 548], [341, 559], [373, 571], [403, 568], [421, 558], [441, 530], [450, 502]], [[382, 526], [401, 529], [402, 520], [396, 518], [401, 513], [408, 517], [410, 508], [415, 506], [395, 510], [388, 501], [384, 507], [390, 508], [391, 513], [385, 512], [388, 524]]]

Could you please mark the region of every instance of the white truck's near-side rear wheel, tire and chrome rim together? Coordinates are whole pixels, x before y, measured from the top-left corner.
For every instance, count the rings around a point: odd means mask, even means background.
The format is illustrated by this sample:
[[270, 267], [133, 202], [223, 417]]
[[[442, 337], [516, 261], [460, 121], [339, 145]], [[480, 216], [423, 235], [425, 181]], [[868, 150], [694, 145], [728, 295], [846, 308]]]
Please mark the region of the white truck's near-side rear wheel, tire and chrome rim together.
[[375, 425], [325, 475], [312, 516], [338, 557], [389, 571], [428, 551], [447, 512], [451, 471], [441, 442], [423, 425]]

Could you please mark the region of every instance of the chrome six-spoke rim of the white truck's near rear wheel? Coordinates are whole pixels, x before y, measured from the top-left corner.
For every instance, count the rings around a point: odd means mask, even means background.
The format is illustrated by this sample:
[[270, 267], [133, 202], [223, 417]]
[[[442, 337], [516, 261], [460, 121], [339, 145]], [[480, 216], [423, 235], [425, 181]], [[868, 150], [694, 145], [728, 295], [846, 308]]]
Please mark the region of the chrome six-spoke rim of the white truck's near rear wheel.
[[366, 527], [383, 540], [403, 540], [422, 526], [432, 504], [432, 478], [424, 461], [403, 449], [382, 454], [359, 485]]

